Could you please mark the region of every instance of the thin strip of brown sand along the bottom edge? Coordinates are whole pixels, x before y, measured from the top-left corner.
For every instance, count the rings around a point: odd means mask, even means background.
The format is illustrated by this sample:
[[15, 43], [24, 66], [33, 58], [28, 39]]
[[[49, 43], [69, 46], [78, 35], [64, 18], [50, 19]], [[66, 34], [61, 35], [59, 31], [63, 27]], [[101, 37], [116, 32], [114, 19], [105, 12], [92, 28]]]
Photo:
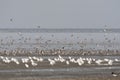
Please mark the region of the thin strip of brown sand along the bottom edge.
[[80, 78], [40, 78], [40, 77], [19, 77], [0, 78], [0, 80], [120, 80], [120, 77], [80, 77]]

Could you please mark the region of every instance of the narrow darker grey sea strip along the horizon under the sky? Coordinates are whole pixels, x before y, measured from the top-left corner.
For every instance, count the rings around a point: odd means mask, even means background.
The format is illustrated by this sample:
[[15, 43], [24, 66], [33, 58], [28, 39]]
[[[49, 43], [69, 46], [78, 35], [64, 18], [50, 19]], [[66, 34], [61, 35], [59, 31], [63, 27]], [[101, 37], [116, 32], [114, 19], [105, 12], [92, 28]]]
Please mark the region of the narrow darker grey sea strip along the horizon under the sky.
[[71, 28], [71, 29], [41, 29], [41, 28], [4, 28], [0, 29], [0, 32], [23, 32], [23, 33], [120, 33], [119, 28], [112, 29], [96, 29], [96, 28]]

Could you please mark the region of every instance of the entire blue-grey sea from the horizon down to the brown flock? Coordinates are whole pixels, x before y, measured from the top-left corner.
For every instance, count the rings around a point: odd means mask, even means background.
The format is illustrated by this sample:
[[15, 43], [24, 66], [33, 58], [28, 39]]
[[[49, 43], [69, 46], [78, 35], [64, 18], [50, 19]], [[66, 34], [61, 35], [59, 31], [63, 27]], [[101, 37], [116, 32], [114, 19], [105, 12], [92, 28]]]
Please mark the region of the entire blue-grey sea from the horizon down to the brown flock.
[[[119, 28], [1, 28], [0, 49], [120, 49]], [[10, 42], [14, 41], [13, 45]]]

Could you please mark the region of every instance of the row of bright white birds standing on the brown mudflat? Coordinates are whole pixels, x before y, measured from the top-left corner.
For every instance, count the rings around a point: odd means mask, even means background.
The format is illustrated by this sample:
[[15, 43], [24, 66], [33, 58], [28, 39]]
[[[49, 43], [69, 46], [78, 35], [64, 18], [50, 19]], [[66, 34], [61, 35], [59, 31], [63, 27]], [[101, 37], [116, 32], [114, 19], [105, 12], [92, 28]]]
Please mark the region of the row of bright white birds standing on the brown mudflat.
[[[107, 59], [107, 58], [104, 58], [104, 59], [95, 59], [95, 58], [82, 58], [82, 57], [79, 57], [79, 58], [73, 58], [73, 57], [67, 57], [67, 58], [63, 58], [62, 56], [58, 56], [58, 57], [55, 57], [55, 58], [48, 58], [46, 59], [47, 62], [49, 62], [49, 65], [53, 66], [55, 65], [57, 62], [61, 62], [61, 63], [66, 63], [66, 65], [70, 65], [71, 63], [75, 63], [75, 64], [78, 64], [79, 66], [82, 66], [82, 65], [85, 65], [85, 64], [88, 64], [88, 65], [92, 65], [92, 64], [95, 64], [95, 65], [113, 65], [114, 62], [118, 62], [120, 63], [120, 60], [119, 59]], [[20, 58], [20, 59], [17, 59], [17, 58], [13, 58], [13, 57], [4, 57], [4, 56], [0, 56], [0, 63], [6, 63], [6, 64], [9, 64], [9, 63], [15, 63], [16, 65], [19, 65], [19, 64], [24, 64], [24, 66], [26, 68], [29, 68], [30, 65], [32, 65], [33, 67], [35, 66], [39, 66], [39, 62], [43, 62], [44, 63], [45, 59], [42, 58], [42, 57], [25, 57], [25, 58]]]

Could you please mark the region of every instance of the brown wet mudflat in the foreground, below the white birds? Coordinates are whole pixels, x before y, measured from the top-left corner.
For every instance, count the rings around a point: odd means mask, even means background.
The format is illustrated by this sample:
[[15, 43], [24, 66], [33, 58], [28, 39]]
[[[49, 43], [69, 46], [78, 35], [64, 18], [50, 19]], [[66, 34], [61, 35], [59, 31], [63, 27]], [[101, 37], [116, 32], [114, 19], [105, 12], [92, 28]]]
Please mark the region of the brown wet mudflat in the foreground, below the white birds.
[[[48, 56], [50, 58], [50, 56]], [[48, 58], [47, 57], [47, 58]], [[53, 56], [55, 57], [55, 56]], [[53, 58], [51, 57], [51, 59]], [[77, 56], [78, 57], [78, 56]], [[89, 56], [92, 57], [92, 56]], [[115, 59], [119, 56], [93, 56], [96, 59], [110, 58]], [[23, 58], [23, 57], [21, 57]], [[30, 64], [30, 63], [29, 63]], [[15, 63], [0, 64], [0, 79], [2, 80], [119, 80], [120, 76], [114, 77], [112, 72], [120, 72], [118, 63], [113, 65], [91, 65], [85, 64], [79, 66], [75, 63], [57, 62], [55, 65], [49, 65], [48, 61], [43, 61], [38, 66], [25, 68], [24, 64]]]

